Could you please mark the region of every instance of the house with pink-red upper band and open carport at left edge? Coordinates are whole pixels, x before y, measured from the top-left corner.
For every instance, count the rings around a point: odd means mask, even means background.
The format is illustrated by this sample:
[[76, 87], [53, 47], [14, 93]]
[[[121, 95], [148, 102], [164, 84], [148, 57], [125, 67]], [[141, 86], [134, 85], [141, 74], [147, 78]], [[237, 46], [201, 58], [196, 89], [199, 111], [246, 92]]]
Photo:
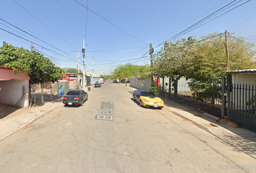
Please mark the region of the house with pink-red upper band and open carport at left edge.
[[29, 81], [27, 73], [17, 75], [12, 68], [0, 66], [0, 104], [28, 107]]

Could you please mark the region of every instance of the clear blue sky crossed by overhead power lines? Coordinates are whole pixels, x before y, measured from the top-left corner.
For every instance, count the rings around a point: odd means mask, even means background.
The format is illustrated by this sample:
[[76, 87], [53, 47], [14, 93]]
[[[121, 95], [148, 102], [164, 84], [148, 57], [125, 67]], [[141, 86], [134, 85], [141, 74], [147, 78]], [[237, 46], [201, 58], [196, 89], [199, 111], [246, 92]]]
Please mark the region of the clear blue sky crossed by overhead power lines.
[[[0, 40], [42, 53], [61, 68], [83, 63], [87, 74], [150, 64], [174, 38], [234, 33], [256, 44], [255, 0], [2, 0]], [[1, 46], [0, 43], [0, 46]], [[256, 49], [256, 47], [254, 47]]]

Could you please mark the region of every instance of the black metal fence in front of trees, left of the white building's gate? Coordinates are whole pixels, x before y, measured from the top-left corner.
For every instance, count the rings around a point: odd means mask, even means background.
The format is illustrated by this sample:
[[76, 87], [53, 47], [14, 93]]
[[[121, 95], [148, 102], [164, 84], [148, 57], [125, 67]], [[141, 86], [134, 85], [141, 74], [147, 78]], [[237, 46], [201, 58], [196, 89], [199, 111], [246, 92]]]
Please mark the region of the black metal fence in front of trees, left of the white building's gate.
[[[191, 84], [194, 84], [194, 89], [192, 89]], [[171, 85], [174, 86], [174, 84]], [[174, 89], [171, 89], [170, 95], [165, 92], [164, 97], [176, 100], [176, 102], [183, 105], [194, 107], [197, 110], [208, 112], [216, 117], [221, 117], [221, 77], [205, 78], [201, 81], [182, 78], [179, 79], [177, 86], [176, 99]]]

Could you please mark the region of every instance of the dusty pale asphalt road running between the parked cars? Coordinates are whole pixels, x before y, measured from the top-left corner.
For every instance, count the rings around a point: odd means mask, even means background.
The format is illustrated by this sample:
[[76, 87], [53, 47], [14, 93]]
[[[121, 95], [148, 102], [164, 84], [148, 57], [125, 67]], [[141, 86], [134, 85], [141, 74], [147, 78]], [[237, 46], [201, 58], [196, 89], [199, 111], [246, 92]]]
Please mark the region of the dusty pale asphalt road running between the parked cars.
[[107, 81], [0, 143], [0, 172], [256, 172], [255, 160]]

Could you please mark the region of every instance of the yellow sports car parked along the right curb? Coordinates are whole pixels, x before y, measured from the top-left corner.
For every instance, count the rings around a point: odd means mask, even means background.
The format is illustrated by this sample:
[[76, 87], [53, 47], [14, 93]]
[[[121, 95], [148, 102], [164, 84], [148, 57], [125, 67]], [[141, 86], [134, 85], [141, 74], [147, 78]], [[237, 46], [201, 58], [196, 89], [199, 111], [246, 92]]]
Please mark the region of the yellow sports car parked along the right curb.
[[164, 106], [161, 98], [157, 97], [153, 92], [144, 90], [135, 90], [132, 94], [132, 99], [139, 102], [141, 107], [157, 107], [162, 109]]

